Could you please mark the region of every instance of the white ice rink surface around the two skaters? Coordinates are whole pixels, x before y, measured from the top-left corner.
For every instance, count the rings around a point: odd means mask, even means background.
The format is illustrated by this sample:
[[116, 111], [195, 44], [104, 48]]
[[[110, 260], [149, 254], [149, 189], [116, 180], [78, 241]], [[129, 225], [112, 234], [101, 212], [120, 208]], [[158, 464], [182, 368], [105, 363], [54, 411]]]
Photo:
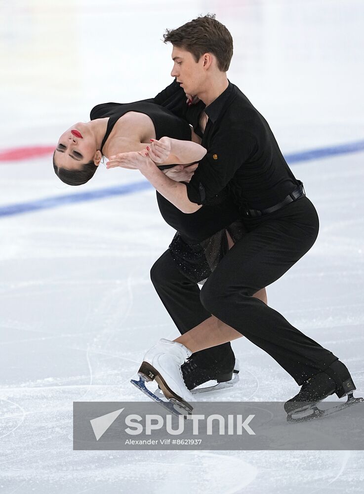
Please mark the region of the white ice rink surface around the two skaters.
[[[361, 0], [12, 0], [0, 2], [0, 154], [55, 145], [98, 103], [154, 96], [171, 81], [165, 28], [207, 12], [230, 29], [228, 77], [268, 120], [283, 154], [363, 142]], [[321, 230], [267, 289], [268, 304], [338, 355], [362, 393], [363, 157], [292, 163]], [[152, 189], [57, 200], [142, 181], [136, 171], [100, 167], [73, 188], [55, 176], [51, 153], [0, 162], [0, 492], [362, 493], [364, 452], [72, 450], [73, 401], [143, 400], [129, 380], [144, 351], [177, 336], [149, 279], [173, 231]], [[29, 211], [35, 201], [44, 207]], [[9, 206], [25, 212], [9, 214]], [[211, 400], [296, 394], [260, 349], [244, 338], [233, 348], [242, 381]]]

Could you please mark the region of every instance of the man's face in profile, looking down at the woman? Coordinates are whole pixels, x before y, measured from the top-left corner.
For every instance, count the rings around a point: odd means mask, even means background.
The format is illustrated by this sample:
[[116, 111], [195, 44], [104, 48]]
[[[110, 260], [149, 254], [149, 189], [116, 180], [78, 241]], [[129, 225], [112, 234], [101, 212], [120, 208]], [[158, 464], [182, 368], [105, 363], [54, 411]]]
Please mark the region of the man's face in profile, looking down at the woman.
[[189, 51], [173, 46], [172, 50], [173, 69], [172, 77], [181, 82], [181, 87], [186, 94], [198, 94], [205, 82], [206, 73], [203, 70], [203, 56], [198, 62]]

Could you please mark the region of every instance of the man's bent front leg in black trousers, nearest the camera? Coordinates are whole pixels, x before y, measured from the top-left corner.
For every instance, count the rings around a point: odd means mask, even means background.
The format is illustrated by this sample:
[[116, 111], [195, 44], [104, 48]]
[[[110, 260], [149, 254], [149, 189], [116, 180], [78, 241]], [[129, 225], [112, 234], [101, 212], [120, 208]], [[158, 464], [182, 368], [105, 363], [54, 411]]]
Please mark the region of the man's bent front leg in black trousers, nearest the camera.
[[266, 351], [300, 385], [337, 357], [251, 295], [278, 280], [312, 247], [318, 232], [315, 215], [308, 199], [291, 203], [280, 218], [247, 233], [201, 291], [206, 311]]

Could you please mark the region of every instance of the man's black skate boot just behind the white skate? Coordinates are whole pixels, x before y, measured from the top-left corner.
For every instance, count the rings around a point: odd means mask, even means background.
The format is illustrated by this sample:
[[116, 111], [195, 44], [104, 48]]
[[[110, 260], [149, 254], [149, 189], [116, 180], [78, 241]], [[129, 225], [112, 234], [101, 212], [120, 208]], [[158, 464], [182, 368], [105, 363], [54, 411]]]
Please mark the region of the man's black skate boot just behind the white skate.
[[[220, 362], [216, 362], [215, 359], [207, 360], [200, 355], [200, 352], [197, 352], [181, 366], [181, 371], [187, 388], [191, 390], [210, 380], [216, 380], [218, 385], [232, 381], [233, 374], [237, 375], [239, 372], [235, 367], [233, 352], [225, 356]], [[229, 386], [219, 386], [218, 389], [223, 387]], [[217, 386], [215, 385], [213, 388], [216, 389]]]

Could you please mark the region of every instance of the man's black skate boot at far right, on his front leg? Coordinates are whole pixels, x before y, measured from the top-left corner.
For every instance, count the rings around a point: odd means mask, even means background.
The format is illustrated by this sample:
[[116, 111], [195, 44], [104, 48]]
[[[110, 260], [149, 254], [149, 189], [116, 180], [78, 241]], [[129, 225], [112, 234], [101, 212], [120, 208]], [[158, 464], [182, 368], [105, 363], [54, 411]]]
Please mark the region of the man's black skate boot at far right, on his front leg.
[[305, 381], [300, 392], [285, 402], [284, 410], [289, 417], [292, 413], [313, 408], [316, 403], [334, 393], [338, 398], [347, 394], [352, 396], [355, 389], [350, 372], [342, 362], [336, 360], [325, 371]]

